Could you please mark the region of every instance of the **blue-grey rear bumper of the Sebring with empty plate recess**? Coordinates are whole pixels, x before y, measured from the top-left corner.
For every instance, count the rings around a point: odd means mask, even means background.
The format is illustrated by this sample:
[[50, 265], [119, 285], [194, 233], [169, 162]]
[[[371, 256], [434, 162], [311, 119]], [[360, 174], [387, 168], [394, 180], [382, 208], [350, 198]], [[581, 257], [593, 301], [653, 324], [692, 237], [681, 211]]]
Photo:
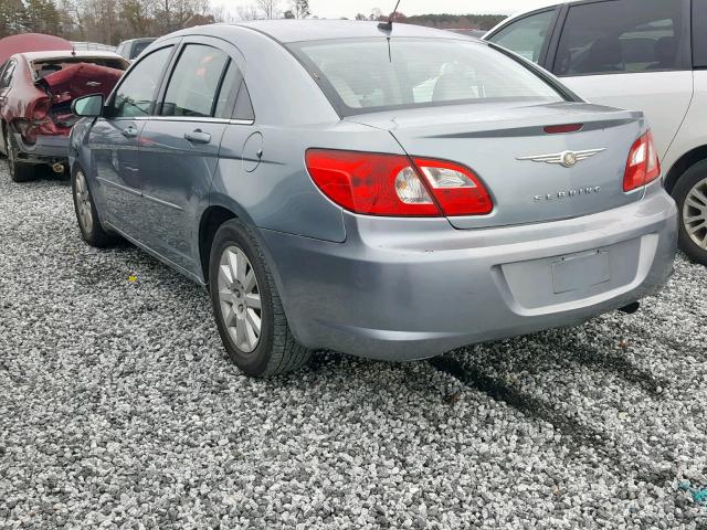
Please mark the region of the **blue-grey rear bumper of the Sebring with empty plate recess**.
[[446, 220], [345, 221], [340, 244], [261, 234], [298, 340], [384, 360], [624, 307], [663, 287], [677, 237], [675, 203], [657, 187], [629, 206], [544, 224], [461, 231]]

